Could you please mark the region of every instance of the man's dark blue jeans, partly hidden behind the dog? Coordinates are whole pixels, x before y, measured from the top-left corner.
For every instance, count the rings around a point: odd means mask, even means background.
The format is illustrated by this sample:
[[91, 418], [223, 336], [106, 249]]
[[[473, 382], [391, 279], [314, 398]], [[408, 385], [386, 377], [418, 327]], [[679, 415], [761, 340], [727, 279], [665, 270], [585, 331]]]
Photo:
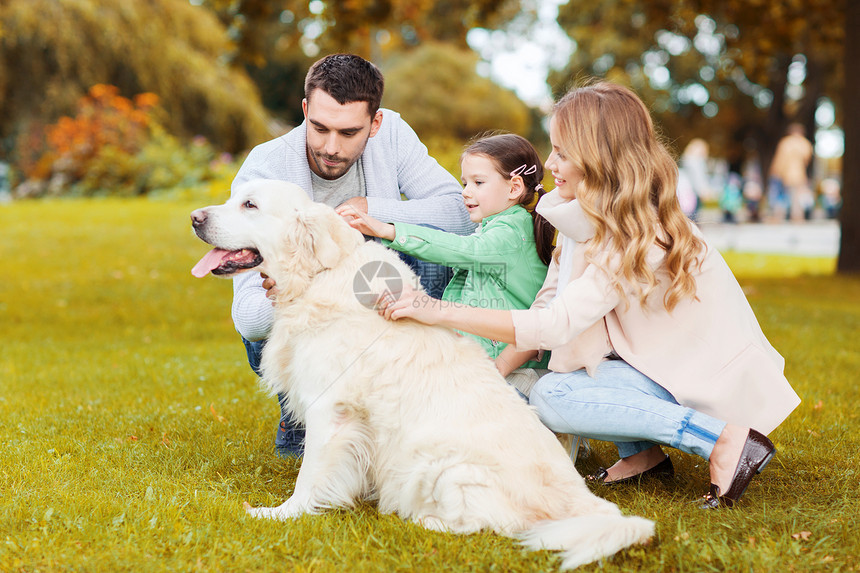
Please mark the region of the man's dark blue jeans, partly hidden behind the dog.
[[[397, 254], [418, 275], [421, 286], [430, 296], [433, 298], [442, 297], [442, 291], [448, 286], [448, 281], [451, 280], [453, 274], [450, 268], [428, 263], [404, 253]], [[260, 360], [263, 357], [263, 347], [266, 345], [266, 341], [251, 342], [243, 337], [242, 342], [245, 344], [245, 352], [248, 355], [248, 364], [251, 366], [251, 370], [260, 376]], [[282, 394], [278, 394], [278, 405], [281, 408], [281, 420], [275, 434], [275, 448], [282, 454], [301, 455], [304, 450], [305, 429], [284, 408], [284, 396]]]

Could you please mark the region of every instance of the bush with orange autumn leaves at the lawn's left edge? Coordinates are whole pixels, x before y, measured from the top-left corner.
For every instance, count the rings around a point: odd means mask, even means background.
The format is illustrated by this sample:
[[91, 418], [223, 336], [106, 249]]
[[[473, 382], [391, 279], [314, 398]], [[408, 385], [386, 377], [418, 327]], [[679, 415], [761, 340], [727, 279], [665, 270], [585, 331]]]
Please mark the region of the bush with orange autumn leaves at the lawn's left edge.
[[19, 138], [21, 197], [139, 195], [214, 176], [212, 147], [202, 137], [183, 144], [159, 117], [159, 98], [126, 98], [115, 86], [96, 84], [80, 98], [74, 117], [34, 127]]

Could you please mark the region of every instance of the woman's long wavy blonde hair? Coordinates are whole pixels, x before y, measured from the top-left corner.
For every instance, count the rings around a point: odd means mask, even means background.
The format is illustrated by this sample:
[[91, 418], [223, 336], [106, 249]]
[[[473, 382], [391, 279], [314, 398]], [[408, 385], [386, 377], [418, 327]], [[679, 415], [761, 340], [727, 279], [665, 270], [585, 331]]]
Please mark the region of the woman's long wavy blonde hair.
[[646, 261], [657, 245], [665, 252], [671, 281], [665, 308], [671, 311], [681, 299], [695, 298], [691, 271], [701, 264], [704, 243], [681, 211], [677, 165], [642, 100], [628, 88], [597, 82], [562, 97], [553, 120], [561, 138], [555, 144], [583, 175], [576, 198], [596, 229], [589, 260], [606, 264], [607, 259], [595, 261], [594, 254], [607, 245], [609, 257], [619, 263], [615, 288], [623, 296], [622, 283], [632, 285], [644, 307], [658, 284]]

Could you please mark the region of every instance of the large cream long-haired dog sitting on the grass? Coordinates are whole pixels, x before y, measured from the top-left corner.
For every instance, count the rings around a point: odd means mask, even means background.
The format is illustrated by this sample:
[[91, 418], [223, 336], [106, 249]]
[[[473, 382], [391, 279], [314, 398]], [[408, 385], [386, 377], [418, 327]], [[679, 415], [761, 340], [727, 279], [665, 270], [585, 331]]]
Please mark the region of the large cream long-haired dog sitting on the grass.
[[278, 285], [265, 386], [307, 429], [292, 496], [259, 518], [288, 519], [375, 499], [426, 528], [492, 530], [563, 551], [564, 568], [653, 535], [593, 495], [553, 433], [474, 341], [374, 310], [415, 275], [301, 188], [256, 180], [191, 214], [213, 247], [194, 268], [255, 269]]

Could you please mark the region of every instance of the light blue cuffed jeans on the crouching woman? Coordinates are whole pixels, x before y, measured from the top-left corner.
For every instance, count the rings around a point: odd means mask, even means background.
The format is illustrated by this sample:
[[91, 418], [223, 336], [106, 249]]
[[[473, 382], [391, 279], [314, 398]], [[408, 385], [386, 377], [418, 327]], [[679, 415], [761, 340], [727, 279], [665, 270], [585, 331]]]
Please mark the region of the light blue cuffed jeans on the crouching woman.
[[678, 404], [665, 388], [624, 362], [550, 372], [529, 395], [555, 432], [614, 442], [622, 458], [667, 445], [707, 460], [726, 423]]

